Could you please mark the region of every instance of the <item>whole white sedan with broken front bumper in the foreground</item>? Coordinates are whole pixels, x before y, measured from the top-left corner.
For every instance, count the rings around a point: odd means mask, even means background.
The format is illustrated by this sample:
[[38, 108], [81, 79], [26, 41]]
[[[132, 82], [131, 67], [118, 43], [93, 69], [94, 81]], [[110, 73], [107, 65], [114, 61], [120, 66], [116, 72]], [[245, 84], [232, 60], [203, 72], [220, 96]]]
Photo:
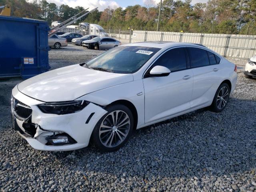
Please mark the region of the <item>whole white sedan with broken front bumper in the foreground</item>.
[[126, 44], [16, 85], [12, 120], [37, 150], [90, 141], [110, 152], [144, 126], [208, 106], [221, 112], [236, 80], [236, 66], [201, 45]]

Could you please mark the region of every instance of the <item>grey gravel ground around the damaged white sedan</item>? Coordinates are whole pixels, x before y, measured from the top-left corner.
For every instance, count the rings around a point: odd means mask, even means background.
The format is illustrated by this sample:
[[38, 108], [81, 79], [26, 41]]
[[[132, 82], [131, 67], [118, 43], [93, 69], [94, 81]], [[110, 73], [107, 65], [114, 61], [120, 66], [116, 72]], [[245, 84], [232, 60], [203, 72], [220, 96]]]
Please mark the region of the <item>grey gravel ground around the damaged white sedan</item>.
[[[51, 50], [52, 68], [102, 51]], [[242, 66], [244, 61], [232, 60]], [[14, 132], [10, 94], [0, 81], [0, 191], [256, 191], [256, 80], [238, 74], [222, 113], [197, 110], [137, 130], [117, 152], [92, 147], [43, 152]]]

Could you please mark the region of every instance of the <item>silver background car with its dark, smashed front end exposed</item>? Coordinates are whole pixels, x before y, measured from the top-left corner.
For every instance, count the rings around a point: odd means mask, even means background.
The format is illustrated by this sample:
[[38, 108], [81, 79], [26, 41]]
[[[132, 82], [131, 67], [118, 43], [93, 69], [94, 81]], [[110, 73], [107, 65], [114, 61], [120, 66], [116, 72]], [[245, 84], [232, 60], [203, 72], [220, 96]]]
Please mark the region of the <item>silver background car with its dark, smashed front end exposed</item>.
[[122, 45], [120, 41], [110, 37], [95, 37], [82, 42], [82, 46], [89, 49], [111, 49], [120, 45]]

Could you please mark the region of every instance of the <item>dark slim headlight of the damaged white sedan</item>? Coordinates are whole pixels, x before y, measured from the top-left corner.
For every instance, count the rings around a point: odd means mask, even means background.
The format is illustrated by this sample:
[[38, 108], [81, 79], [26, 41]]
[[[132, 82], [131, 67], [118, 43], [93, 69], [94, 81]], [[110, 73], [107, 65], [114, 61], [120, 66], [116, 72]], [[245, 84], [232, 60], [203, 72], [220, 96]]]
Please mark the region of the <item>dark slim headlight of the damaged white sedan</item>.
[[47, 102], [38, 105], [38, 108], [44, 113], [64, 115], [80, 111], [85, 108], [89, 103], [90, 102], [85, 100]]

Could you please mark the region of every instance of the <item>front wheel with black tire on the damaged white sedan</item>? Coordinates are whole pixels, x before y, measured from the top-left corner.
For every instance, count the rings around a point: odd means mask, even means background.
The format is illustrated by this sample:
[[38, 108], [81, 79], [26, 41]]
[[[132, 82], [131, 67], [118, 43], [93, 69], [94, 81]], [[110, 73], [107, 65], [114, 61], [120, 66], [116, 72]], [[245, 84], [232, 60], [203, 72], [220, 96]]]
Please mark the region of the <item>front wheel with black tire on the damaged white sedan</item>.
[[[101, 150], [102, 152], [113, 152], [120, 149], [130, 138], [133, 132], [134, 118], [132, 116], [132, 112], [130, 111], [130, 109], [124, 105], [117, 104], [117, 105], [109, 106], [106, 108], [106, 110], [108, 111], [108, 113], [105, 114], [102, 118], [100, 118], [100, 120], [94, 127], [94, 130], [92, 132], [92, 142], [94, 146], [97, 149]], [[116, 111], [119, 111], [119, 112], [117, 113]], [[117, 118], [115, 118], [116, 124], [114, 126], [113, 126], [114, 120], [111, 120], [112, 113], [117, 114]], [[125, 118], [127, 118], [127, 116], [128, 116], [128, 119], [124, 120]], [[122, 122], [123, 120], [124, 122]], [[116, 126], [118, 125], [118, 123], [121, 125], [120, 127]], [[109, 128], [104, 128], [102, 127], [102, 125], [108, 126]], [[129, 126], [129, 129], [128, 129], [128, 126]], [[105, 132], [102, 132], [100, 134], [100, 131], [102, 130]], [[120, 131], [122, 131], [122, 133], [126, 135], [126, 137], [123, 134], [120, 134]], [[120, 138], [122, 138], [123, 140], [121, 141]], [[113, 142], [114, 142], [114, 145], [112, 145]]]

